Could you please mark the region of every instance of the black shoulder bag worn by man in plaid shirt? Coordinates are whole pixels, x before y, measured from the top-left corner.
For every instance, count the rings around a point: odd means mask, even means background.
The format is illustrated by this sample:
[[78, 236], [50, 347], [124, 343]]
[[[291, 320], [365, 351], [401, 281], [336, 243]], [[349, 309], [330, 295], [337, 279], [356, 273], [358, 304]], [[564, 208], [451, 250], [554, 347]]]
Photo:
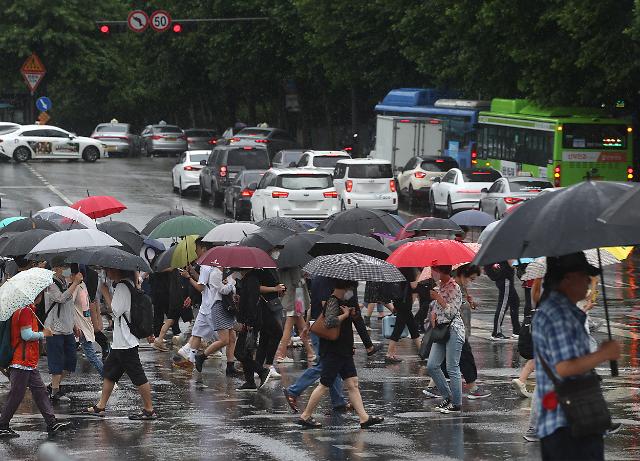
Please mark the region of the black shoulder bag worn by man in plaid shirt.
[[560, 381], [547, 362], [538, 355], [545, 373], [553, 381], [560, 407], [569, 423], [571, 435], [602, 435], [611, 427], [611, 414], [600, 387], [601, 378], [594, 371], [588, 375]]

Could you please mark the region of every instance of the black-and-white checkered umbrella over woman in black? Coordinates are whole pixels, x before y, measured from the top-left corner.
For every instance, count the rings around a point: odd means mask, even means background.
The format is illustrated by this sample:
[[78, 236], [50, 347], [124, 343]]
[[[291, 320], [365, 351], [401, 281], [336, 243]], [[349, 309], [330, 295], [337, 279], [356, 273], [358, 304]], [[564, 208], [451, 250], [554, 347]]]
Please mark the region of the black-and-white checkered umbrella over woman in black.
[[356, 282], [406, 281], [400, 271], [388, 262], [360, 253], [318, 256], [302, 270], [312, 276]]

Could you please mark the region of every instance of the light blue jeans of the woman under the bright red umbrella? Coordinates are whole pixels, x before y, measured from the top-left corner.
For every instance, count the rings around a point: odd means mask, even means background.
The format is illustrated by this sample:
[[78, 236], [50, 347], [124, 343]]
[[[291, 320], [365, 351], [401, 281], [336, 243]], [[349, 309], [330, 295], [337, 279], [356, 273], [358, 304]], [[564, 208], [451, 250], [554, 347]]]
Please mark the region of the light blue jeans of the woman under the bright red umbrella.
[[[451, 328], [449, 341], [446, 344], [433, 343], [429, 360], [427, 361], [427, 373], [433, 378], [433, 382], [444, 397], [451, 399], [454, 405], [462, 405], [462, 376], [460, 373], [460, 354], [464, 339]], [[447, 384], [444, 373], [440, 369], [442, 362], [447, 360], [447, 373], [451, 380], [451, 387]]]

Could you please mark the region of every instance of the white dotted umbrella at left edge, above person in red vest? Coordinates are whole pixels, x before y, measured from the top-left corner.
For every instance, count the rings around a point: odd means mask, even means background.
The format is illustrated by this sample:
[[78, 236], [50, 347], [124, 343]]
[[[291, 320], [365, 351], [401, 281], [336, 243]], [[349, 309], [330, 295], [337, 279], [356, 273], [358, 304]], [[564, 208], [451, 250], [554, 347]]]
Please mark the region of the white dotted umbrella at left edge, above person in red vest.
[[7, 321], [21, 307], [32, 304], [53, 283], [53, 271], [34, 267], [18, 272], [0, 287], [0, 321]]

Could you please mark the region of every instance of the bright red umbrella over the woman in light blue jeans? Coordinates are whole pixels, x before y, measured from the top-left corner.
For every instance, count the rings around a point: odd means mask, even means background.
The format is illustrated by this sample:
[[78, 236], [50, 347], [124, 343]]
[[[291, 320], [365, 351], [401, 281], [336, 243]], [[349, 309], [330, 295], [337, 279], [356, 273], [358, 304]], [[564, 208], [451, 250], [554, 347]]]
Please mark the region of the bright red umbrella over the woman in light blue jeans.
[[387, 262], [396, 267], [453, 266], [473, 261], [476, 253], [455, 240], [418, 240], [398, 247]]

